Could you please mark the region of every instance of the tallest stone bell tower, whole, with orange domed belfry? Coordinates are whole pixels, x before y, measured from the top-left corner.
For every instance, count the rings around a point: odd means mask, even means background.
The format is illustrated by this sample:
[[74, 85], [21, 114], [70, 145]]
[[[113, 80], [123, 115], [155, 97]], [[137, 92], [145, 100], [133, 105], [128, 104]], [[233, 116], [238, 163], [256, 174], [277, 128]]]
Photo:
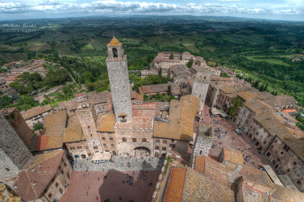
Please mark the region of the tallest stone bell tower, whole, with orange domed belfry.
[[127, 56], [123, 54], [122, 43], [114, 36], [107, 47], [109, 57], [105, 62], [108, 68], [116, 123], [131, 122], [132, 106]]

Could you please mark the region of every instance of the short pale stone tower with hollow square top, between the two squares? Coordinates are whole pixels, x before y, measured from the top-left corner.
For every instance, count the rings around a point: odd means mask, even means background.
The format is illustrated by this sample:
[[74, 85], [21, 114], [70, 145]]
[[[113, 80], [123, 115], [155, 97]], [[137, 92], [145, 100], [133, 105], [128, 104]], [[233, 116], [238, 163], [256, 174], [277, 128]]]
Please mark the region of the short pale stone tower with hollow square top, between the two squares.
[[208, 155], [213, 141], [213, 127], [210, 125], [199, 124], [193, 144], [190, 165], [194, 168], [196, 155]]

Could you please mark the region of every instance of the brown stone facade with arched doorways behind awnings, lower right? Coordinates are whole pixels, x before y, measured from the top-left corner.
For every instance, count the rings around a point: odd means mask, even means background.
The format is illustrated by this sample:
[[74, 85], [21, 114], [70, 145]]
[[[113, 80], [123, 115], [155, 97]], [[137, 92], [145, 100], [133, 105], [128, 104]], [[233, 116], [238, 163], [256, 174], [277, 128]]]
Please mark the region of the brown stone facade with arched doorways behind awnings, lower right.
[[[287, 151], [284, 148], [285, 146], [285, 143], [280, 138], [275, 137], [265, 154], [274, 166], [278, 165], [275, 169], [278, 171], [276, 173], [278, 175], [286, 174], [292, 183], [303, 193], [304, 162], [292, 149]], [[296, 163], [295, 165], [294, 162]]]

